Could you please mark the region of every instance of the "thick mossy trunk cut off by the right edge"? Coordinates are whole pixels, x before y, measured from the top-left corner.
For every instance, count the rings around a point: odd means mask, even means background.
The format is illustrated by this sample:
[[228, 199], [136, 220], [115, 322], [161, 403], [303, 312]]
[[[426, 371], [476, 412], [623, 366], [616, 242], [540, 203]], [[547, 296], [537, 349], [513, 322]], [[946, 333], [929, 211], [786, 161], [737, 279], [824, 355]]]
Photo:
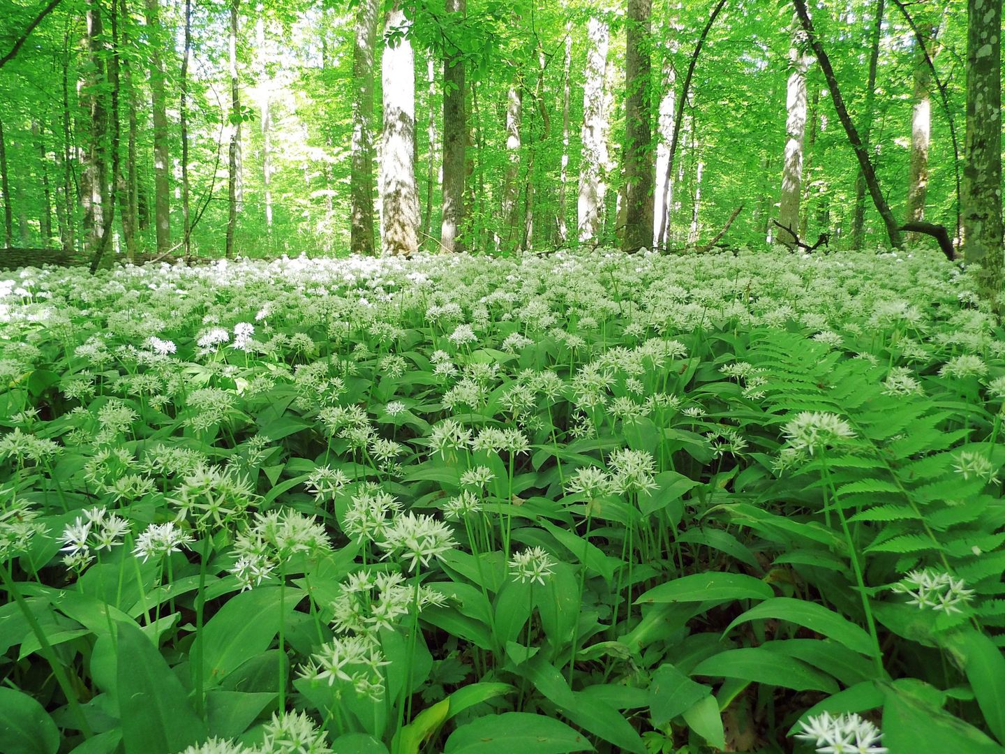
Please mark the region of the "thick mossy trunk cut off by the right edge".
[[1001, 0], [967, 3], [967, 137], [963, 257], [981, 265], [982, 296], [1002, 308]]

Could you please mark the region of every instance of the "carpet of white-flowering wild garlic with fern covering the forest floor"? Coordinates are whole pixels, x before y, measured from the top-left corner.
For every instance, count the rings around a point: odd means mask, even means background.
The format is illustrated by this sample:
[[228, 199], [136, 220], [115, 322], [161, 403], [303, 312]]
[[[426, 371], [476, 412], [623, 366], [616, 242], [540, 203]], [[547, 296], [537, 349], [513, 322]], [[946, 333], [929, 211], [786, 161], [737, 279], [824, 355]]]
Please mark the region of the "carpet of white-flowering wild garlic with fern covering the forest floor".
[[2, 751], [1002, 751], [935, 252], [4, 274]]

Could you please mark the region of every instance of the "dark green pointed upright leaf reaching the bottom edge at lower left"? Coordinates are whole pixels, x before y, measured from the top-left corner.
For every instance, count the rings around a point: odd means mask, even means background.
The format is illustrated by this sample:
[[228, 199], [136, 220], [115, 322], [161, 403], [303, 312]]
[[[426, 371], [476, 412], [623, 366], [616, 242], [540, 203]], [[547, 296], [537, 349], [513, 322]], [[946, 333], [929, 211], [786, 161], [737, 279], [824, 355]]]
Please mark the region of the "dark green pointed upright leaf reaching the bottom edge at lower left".
[[205, 739], [181, 682], [135, 623], [119, 624], [117, 686], [126, 754], [173, 754]]

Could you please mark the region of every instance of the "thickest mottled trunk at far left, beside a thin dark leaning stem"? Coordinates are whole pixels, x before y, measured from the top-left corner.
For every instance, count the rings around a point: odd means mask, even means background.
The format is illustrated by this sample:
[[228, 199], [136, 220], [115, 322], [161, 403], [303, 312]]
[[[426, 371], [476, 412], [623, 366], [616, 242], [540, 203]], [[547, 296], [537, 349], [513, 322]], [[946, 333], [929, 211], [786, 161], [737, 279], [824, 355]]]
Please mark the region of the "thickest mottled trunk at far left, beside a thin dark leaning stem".
[[83, 228], [86, 233], [84, 251], [96, 258], [105, 234], [107, 189], [107, 114], [102, 87], [105, 83], [104, 29], [100, 0], [87, 2], [88, 68], [81, 93], [88, 111], [87, 157], [80, 178]]

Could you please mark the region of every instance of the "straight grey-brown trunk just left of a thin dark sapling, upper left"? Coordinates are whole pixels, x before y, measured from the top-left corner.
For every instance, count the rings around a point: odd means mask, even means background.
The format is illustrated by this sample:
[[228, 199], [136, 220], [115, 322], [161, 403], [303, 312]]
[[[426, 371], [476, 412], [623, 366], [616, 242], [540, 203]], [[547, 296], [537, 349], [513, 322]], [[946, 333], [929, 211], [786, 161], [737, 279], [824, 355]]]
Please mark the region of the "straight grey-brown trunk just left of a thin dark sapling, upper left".
[[171, 150], [161, 46], [170, 38], [170, 34], [161, 29], [160, 12], [160, 0], [146, 0], [154, 121], [154, 230], [157, 235], [157, 253], [166, 254], [171, 250]]

